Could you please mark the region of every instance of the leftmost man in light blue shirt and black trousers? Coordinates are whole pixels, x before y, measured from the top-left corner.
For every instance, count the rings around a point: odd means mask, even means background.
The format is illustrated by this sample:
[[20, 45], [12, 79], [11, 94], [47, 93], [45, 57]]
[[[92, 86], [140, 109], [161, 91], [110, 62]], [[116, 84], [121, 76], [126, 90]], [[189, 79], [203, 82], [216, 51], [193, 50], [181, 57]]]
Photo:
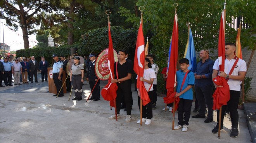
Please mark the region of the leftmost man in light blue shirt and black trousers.
[[3, 79], [4, 79], [4, 83], [5, 86], [12, 86], [12, 73], [14, 73], [13, 71], [13, 65], [11, 62], [9, 62], [8, 57], [4, 57], [3, 58], [3, 67], [4, 67], [4, 75], [3, 75]]

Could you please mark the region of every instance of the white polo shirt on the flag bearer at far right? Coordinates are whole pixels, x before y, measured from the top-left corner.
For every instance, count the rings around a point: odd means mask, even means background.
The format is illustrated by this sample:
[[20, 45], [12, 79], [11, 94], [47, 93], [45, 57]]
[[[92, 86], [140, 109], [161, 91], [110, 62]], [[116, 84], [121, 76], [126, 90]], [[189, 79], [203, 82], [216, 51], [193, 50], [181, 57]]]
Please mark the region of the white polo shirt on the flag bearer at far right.
[[[228, 75], [232, 66], [235, 63], [235, 59], [232, 60], [228, 60], [225, 59], [225, 69], [224, 72]], [[220, 66], [219, 66], [219, 59], [217, 59], [214, 63], [213, 66], [213, 70], [219, 70]], [[246, 72], [246, 62], [242, 59], [239, 59], [237, 62], [237, 65], [235, 66], [233, 72], [231, 75], [238, 75], [239, 72]], [[219, 73], [218, 73], [219, 75]], [[229, 79], [228, 80], [228, 85], [229, 85], [229, 90], [235, 90], [235, 91], [240, 91], [241, 87], [240, 84], [242, 83], [242, 81], [240, 80], [232, 80]]]

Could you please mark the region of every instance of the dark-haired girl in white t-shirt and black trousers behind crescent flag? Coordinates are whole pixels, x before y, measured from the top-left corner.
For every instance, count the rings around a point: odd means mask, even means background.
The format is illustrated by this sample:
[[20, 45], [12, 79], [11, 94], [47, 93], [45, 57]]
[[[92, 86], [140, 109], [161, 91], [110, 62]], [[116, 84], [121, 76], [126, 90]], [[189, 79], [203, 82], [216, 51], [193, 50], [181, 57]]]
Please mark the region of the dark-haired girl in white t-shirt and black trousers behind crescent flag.
[[[155, 71], [151, 69], [151, 63], [148, 58], [145, 58], [144, 63], [144, 74], [143, 77], [140, 77], [140, 81], [144, 82], [145, 89], [147, 90], [150, 102], [146, 106], [142, 106], [142, 122], [145, 122], [145, 125], [151, 124], [151, 118], [153, 117], [152, 113], [152, 97], [153, 97], [153, 82], [156, 78]], [[140, 91], [138, 90], [138, 106], [140, 109]], [[140, 124], [140, 119], [137, 121]]]

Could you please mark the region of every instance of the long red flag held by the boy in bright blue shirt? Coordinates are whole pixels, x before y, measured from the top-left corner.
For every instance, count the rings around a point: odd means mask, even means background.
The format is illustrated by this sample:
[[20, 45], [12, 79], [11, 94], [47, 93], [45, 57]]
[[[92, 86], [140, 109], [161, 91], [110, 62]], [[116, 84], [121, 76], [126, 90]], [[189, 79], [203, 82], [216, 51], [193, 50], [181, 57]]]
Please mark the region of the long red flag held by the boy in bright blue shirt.
[[[171, 39], [171, 45], [170, 45], [169, 61], [168, 61], [167, 80], [166, 80], [167, 98], [164, 98], [164, 100], [167, 100], [168, 98], [173, 98], [172, 99], [173, 101], [175, 100], [174, 96], [171, 96], [171, 97], [169, 96], [173, 94], [174, 88], [176, 87], [175, 82], [176, 82], [177, 61], [178, 61], [178, 17], [175, 14], [174, 24], [173, 24], [173, 33], [172, 33], [172, 39]], [[179, 98], [179, 97], [176, 97], [176, 98]], [[164, 101], [164, 102], [167, 102], [167, 101]]]

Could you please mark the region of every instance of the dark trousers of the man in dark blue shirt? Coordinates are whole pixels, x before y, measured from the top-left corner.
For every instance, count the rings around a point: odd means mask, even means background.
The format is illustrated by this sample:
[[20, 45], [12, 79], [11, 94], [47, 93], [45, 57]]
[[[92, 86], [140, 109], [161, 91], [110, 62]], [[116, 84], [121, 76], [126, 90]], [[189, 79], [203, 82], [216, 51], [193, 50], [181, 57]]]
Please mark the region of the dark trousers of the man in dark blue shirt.
[[213, 86], [207, 85], [205, 87], [195, 86], [195, 94], [199, 104], [199, 115], [205, 115], [205, 108], [207, 104], [208, 118], [213, 118]]

